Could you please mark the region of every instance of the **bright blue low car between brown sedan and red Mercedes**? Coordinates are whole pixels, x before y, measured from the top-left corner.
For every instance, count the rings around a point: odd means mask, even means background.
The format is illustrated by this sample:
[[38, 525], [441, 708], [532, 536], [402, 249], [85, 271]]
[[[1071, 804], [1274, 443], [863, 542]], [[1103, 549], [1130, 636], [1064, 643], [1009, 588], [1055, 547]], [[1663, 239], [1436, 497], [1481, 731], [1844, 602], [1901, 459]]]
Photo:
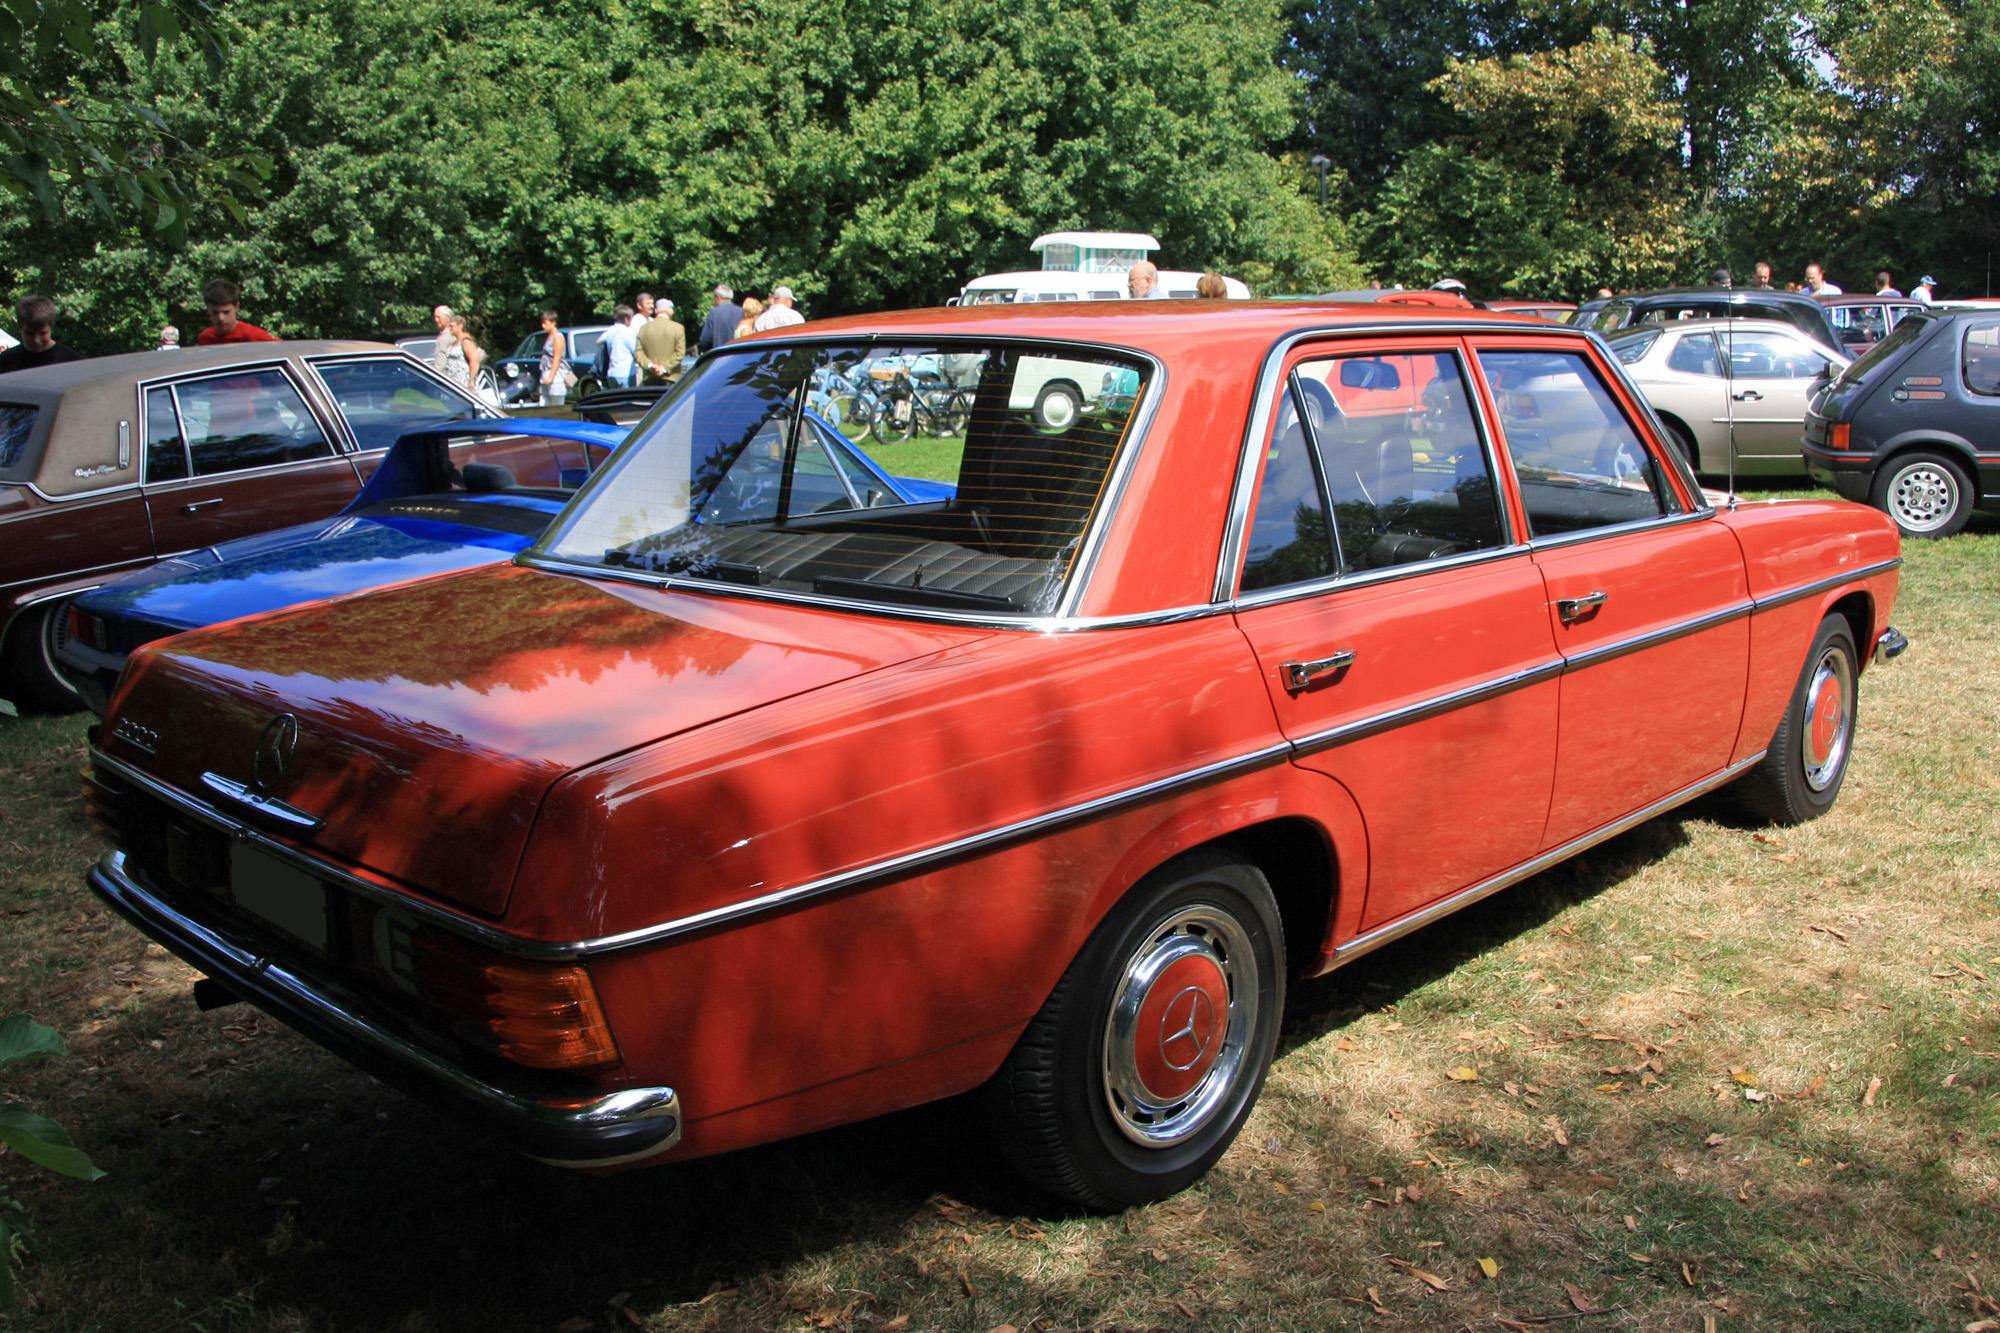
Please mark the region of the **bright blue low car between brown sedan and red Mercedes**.
[[[954, 494], [944, 482], [890, 476], [824, 418], [808, 412], [806, 420], [824, 454], [822, 466], [798, 468], [802, 506], [878, 508]], [[388, 450], [368, 486], [332, 518], [192, 550], [78, 596], [70, 604], [70, 638], [58, 654], [62, 669], [102, 717], [126, 656], [154, 638], [514, 558], [542, 536], [586, 472], [566, 470], [562, 488], [536, 488], [516, 484], [500, 466], [468, 462], [458, 468], [448, 440], [468, 434], [552, 436], [584, 442], [586, 454], [590, 446], [610, 454], [624, 442], [626, 426], [516, 416], [410, 430]], [[754, 448], [744, 450], [728, 498], [712, 504], [704, 520], [728, 522], [728, 510], [748, 498], [744, 488], [766, 482]]]

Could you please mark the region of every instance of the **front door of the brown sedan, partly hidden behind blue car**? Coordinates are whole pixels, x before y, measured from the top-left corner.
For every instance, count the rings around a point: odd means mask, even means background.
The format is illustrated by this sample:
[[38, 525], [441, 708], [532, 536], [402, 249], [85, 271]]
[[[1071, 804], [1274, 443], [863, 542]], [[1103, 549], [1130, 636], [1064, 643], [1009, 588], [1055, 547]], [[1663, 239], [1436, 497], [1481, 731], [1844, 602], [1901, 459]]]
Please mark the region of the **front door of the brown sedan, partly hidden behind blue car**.
[[[404, 356], [318, 356], [312, 362], [326, 398], [340, 412], [362, 476], [414, 426], [454, 416], [492, 416], [462, 388]], [[464, 436], [450, 442], [452, 462], [502, 466], [522, 486], [558, 486], [564, 468], [588, 468], [578, 440], [548, 436]]]

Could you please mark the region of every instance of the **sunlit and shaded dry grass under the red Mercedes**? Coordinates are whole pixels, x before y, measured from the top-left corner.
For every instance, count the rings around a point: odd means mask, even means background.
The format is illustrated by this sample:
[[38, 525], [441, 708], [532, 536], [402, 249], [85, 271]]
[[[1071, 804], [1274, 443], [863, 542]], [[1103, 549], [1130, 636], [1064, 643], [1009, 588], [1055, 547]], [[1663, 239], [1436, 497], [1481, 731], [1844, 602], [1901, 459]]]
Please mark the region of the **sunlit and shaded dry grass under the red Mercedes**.
[[1862, 679], [1832, 815], [1708, 799], [1294, 987], [1236, 1147], [1118, 1217], [1014, 1183], [952, 1105], [614, 1179], [510, 1157], [254, 1011], [196, 1013], [82, 887], [82, 721], [0, 719], [0, 993], [70, 1041], [4, 1093], [110, 1171], [0, 1157], [40, 1231], [0, 1327], [2000, 1317], [2000, 518], [1906, 556], [1914, 646]]

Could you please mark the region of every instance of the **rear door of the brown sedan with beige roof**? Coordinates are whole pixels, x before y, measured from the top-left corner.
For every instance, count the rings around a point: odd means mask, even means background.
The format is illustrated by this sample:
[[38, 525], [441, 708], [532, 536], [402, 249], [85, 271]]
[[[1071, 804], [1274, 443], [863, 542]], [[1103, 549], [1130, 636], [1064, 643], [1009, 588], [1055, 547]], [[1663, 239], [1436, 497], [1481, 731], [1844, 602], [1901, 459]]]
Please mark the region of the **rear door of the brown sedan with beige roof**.
[[144, 410], [142, 490], [162, 556], [322, 518], [360, 490], [282, 362], [148, 384]]

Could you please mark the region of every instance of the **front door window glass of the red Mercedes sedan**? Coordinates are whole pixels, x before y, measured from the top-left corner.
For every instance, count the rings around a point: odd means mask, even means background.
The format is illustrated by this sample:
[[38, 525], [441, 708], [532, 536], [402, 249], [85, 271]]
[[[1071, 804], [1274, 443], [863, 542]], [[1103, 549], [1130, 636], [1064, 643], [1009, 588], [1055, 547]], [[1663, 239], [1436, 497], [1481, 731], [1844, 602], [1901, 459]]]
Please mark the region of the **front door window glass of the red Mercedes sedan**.
[[1680, 512], [1658, 458], [1580, 352], [1482, 350], [1530, 536]]

